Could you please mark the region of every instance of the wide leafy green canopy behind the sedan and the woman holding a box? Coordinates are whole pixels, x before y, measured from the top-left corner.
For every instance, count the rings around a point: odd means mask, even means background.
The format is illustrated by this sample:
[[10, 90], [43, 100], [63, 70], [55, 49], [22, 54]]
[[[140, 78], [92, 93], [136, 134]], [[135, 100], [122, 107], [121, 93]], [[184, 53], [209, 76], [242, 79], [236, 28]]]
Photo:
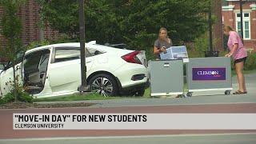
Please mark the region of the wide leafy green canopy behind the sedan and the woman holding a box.
[[[78, 1], [40, 0], [43, 18], [54, 30], [78, 39]], [[174, 44], [193, 41], [206, 31], [209, 0], [85, 1], [86, 41], [125, 42], [151, 50], [158, 30], [169, 30]]]

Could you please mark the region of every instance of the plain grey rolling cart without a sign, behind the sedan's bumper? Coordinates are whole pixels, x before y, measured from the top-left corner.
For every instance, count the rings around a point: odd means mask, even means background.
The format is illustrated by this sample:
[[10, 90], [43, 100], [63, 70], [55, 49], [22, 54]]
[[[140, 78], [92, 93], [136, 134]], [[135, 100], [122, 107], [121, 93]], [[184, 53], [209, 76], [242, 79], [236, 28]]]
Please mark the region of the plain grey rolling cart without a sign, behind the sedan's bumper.
[[182, 59], [150, 61], [149, 71], [152, 97], [184, 94]]

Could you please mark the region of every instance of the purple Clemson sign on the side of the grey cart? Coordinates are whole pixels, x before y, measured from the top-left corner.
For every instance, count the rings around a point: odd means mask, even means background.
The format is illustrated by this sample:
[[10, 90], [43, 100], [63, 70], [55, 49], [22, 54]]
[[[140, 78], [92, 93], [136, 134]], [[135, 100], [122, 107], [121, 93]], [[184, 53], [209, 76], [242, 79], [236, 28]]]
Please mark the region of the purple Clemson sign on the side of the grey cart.
[[192, 68], [193, 81], [226, 80], [226, 68]]

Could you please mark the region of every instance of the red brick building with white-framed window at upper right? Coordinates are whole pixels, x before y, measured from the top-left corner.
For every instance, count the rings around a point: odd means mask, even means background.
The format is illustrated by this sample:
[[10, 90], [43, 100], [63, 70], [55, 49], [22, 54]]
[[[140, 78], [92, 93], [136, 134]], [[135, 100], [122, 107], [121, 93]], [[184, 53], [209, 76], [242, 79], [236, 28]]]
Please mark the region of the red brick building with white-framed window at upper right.
[[[243, 13], [243, 39], [247, 49], [256, 51], [256, 2], [244, 2]], [[226, 0], [222, 6], [222, 21], [241, 34], [239, 0]]]

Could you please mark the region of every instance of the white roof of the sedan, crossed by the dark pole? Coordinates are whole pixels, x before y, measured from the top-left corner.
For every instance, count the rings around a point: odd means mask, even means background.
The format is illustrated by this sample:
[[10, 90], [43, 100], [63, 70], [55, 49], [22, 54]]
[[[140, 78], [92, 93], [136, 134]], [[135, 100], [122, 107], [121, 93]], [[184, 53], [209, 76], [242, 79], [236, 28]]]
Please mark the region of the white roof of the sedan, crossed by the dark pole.
[[[39, 47], [33, 48], [31, 50], [27, 50], [26, 54], [29, 54], [31, 52], [38, 51], [38, 50], [48, 50], [51, 47], [63, 47], [63, 46], [79, 47], [80, 43], [79, 42], [68, 42], [68, 43], [57, 43], [57, 44], [52, 44], [52, 45], [39, 46]], [[97, 50], [103, 50], [103, 51], [122, 50], [122, 49], [118, 49], [118, 48], [114, 48], [114, 47], [110, 47], [110, 46], [99, 45], [99, 44], [94, 44], [94, 43], [90, 43], [90, 42], [86, 43], [86, 47], [94, 48]]]

